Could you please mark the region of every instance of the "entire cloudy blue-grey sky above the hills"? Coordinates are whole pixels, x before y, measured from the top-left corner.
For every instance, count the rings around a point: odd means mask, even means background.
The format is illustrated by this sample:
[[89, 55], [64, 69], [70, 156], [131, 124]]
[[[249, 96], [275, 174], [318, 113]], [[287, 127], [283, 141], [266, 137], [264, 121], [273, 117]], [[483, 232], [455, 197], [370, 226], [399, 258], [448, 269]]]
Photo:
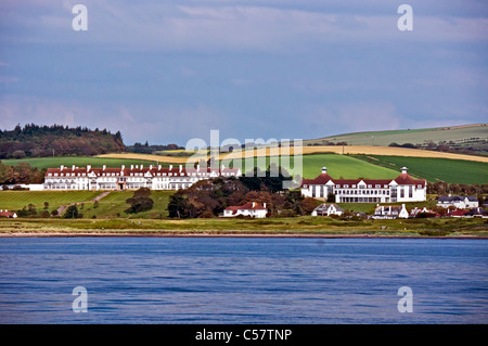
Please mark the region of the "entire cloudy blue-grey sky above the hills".
[[0, 129], [184, 146], [486, 123], [487, 53], [487, 1], [2, 0]]

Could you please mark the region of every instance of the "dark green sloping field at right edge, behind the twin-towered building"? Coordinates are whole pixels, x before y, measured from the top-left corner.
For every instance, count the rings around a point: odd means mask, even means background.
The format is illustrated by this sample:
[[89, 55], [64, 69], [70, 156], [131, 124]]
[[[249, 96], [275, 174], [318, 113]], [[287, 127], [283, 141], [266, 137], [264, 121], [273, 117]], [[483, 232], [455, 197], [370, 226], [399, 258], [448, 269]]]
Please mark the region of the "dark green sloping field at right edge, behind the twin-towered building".
[[445, 181], [449, 183], [483, 184], [488, 183], [488, 164], [473, 161], [356, 155], [367, 162], [399, 170], [409, 168], [409, 174], [427, 179], [428, 182]]

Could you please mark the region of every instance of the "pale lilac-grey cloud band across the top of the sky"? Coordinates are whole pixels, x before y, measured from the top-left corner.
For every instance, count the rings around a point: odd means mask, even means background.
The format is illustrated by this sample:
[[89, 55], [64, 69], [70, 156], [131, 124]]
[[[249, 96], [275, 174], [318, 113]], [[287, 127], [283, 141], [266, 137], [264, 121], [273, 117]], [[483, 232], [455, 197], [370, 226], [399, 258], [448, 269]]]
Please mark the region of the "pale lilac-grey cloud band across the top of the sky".
[[[11, 23], [14, 39], [57, 43], [104, 43], [107, 48], [149, 50], [257, 50], [295, 51], [297, 48], [326, 42], [406, 41], [486, 41], [488, 18], [485, 16], [436, 15], [414, 7], [413, 31], [399, 31], [399, 14], [388, 2], [370, 9], [356, 4], [337, 4], [332, 11], [288, 1], [278, 8], [274, 1], [182, 1], [110, 2], [86, 0], [89, 29], [72, 29], [76, 1], [62, 5], [41, 2], [39, 13], [20, 15], [23, 8], [36, 7], [21, 2], [4, 5], [2, 18]], [[203, 4], [202, 4], [203, 3]], [[416, 10], [420, 8], [421, 10]], [[0, 8], [1, 9], [1, 8]], [[382, 9], [374, 11], [374, 9]], [[389, 11], [388, 11], [388, 10]], [[15, 30], [15, 28], [28, 30]], [[22, 34], [21, 34], [22, 33]], [[5, 39], [5, 37], [4, 37]]]

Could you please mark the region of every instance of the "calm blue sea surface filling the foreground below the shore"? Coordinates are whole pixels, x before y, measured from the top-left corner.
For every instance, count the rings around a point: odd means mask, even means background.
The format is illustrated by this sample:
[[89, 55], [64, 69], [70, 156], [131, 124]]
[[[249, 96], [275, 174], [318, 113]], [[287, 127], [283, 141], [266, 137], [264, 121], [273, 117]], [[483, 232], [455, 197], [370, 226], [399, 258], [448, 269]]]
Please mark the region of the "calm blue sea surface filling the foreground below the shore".
[[486, 240], [0, 239], [0, 323], [487, 322]]

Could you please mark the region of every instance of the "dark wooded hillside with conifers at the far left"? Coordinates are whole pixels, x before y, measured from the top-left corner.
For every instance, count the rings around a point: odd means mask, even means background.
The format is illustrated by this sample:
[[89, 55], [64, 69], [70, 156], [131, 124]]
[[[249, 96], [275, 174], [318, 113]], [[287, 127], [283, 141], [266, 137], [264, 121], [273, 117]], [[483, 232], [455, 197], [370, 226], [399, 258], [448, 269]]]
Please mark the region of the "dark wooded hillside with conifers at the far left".
[[120, 132], [106, 129], [69, 128], [62, 125], [35, 124], [13, 130], [0, 130], [0, 159], [64, 155], [98, 155], [123, 152]]

